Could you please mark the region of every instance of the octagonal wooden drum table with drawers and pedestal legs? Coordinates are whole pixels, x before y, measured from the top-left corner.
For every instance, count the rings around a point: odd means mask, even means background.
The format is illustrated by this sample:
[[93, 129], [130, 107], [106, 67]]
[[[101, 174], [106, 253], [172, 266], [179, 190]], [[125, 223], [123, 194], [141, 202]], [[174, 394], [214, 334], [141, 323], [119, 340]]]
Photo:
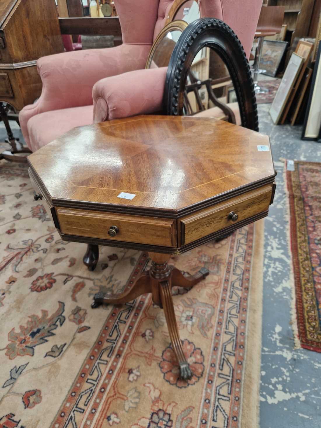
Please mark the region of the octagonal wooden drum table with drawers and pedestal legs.
[[92, 307], [152, 292], [162, 307], [181, 377], [191, 371], [178, 334], [172, 285], [208, 275], [168, 265], [180, 254], [265, 217], [275, 191], [269, 138], [213, 118], [136, 116], [74, 128], [28, 157], [35, 189], [65, 241], [147, 250], [149, 271], [122, 294], [96, 294]]

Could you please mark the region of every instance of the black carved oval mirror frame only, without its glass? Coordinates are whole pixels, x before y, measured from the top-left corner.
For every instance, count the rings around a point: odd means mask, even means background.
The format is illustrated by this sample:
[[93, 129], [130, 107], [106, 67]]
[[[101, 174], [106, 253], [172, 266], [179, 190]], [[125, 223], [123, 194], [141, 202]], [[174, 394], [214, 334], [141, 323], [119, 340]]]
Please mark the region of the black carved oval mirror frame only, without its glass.
[[259, 131], [256, 97], [247, 57], [236, 34], [220, 19], [198, 19], [181, 34], [167, 69], [164, 114], [183, 114], [187, 75], [196, 53], [202, 48], [213, 49], [225, 62], [236, 92], [242, 126]]

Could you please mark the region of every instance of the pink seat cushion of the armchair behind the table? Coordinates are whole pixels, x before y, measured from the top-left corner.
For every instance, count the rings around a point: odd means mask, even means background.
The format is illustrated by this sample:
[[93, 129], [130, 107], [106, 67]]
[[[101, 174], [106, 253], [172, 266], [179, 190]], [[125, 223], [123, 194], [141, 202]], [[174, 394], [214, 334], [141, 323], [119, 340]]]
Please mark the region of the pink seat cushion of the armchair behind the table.
[[72, 107], [37, 114], [28, 120], [27, 128], [33, 152], [76, 126], [92, 124], [94, 106]]

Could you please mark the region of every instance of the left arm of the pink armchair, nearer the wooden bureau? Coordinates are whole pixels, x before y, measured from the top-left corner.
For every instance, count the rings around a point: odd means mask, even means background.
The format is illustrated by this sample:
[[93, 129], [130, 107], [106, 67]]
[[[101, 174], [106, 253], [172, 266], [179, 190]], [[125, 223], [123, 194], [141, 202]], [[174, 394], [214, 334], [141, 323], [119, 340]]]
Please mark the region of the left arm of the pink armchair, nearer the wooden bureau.
[[27, 140], [27, 122], [36, 114], [92, 104], [92, 87], [103, 77], [144, 68], [150, 45], [122, 44], [116, 48], [92, 49], [44, 56], [37, 61], [42, 93], [35, 104], [20, 114]]

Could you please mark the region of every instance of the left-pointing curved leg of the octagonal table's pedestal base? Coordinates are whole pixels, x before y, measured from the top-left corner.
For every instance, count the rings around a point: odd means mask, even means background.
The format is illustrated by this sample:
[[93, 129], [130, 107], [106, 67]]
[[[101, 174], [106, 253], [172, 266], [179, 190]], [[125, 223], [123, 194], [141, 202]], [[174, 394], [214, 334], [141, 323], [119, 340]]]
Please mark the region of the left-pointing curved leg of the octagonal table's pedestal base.
[[130, 302], [131, 300], [136, 299], [136, 297], [139, 297], [145, 293], [150, 293], [151, 291], [152, 289], [149, 272], [144, 272], [136, 279], [136, 281], [131, 286], [131, 289], [125, 291], [124, 293], [96, 293], [94, 296], [94, 302], [92, 303], [92, 308], [97, 308], [102, 303], [113, 303], [114, 305], [119, 305]]

